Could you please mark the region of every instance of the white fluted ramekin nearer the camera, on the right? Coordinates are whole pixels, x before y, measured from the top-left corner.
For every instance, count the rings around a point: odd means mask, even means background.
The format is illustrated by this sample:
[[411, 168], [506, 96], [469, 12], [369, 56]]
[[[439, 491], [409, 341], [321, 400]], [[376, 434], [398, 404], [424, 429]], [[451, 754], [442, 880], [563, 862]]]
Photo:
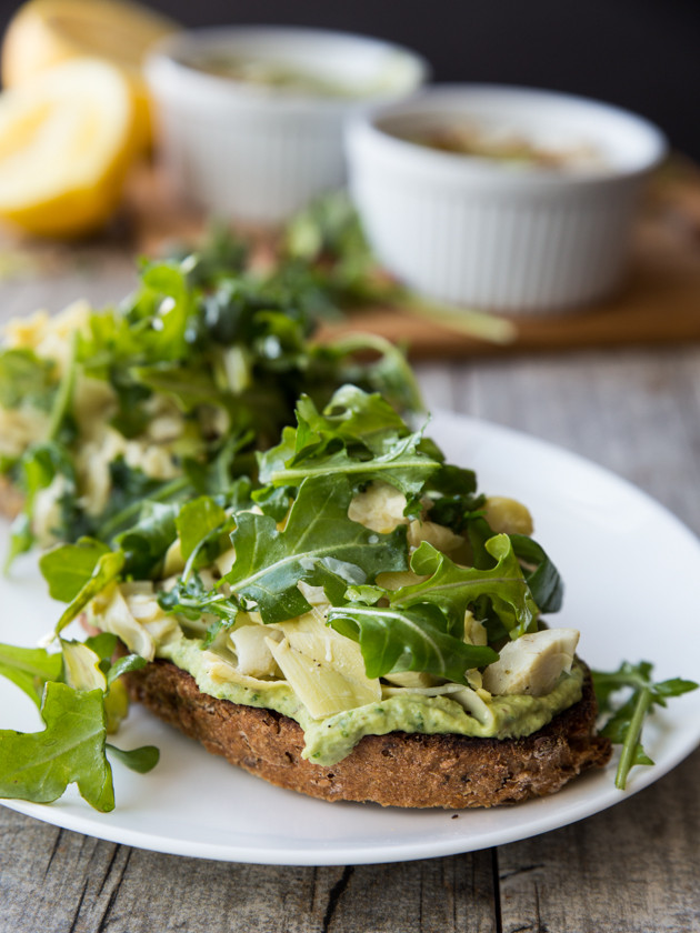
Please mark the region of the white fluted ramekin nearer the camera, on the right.
[[[587, 144], [603, 167], [513, 168], [399, 139], [446, 120]], [[612, 291], [624, 271], [661, 132], [582, 98], [499, 86], [433, 86], [348, 128], [350, 188], [386, 267], [419, 292], [508, 313], [557, 313]]]

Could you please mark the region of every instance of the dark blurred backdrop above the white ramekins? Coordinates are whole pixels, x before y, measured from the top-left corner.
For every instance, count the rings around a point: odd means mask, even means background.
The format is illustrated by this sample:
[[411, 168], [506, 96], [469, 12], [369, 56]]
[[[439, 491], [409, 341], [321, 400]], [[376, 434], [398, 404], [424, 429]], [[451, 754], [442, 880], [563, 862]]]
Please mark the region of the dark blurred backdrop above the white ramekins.
[[[0, 27], [20, 4], [0, 3]], [[287, 23], [402, 42], [439, 81], [497, 81], [580, 93], [658, 123], [700, 159], [698, 0], [151, 0], [186, 26]]]

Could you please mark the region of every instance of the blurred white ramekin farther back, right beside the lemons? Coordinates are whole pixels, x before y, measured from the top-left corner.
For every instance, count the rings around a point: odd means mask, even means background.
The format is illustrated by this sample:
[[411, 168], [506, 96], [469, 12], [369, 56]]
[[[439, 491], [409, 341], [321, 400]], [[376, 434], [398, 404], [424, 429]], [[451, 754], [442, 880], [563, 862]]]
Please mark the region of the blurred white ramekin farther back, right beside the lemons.
[[[203, 53], [298, 63], [328, 78], [377, 83], [377, 93], [330, 98], [276, 92], [188, 64]], [[154, 48], [146, 76], [159, 154], [171, 187], [216, 215], [278, 223], [346, 180], [349, 114], [407, 97], [422, 58], [398, 46], [318, 29], [223, 27], [177, 33]]]

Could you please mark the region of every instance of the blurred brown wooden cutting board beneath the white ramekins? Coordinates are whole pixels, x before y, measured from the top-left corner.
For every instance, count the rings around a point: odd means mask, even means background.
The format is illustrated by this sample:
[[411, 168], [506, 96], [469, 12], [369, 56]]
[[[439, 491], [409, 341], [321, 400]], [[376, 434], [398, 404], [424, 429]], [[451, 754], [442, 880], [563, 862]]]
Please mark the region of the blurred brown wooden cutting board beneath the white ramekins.
[[[166, 240], [201, 235], [202, 218], [178, 207], [152, 173], [134, 181], [129, 203], [137, 243], [147, 253]], [[498, 344], [400, 308], [353, 311], [324, 325], [322, 334], [371, 331], [406, 343], [414, 359], [700, 340], [700, 170], [678, 158], [654, 177], [634, 230], [629, 272], [617, 294], [561, 314], [507, 320], [511, 339]]]

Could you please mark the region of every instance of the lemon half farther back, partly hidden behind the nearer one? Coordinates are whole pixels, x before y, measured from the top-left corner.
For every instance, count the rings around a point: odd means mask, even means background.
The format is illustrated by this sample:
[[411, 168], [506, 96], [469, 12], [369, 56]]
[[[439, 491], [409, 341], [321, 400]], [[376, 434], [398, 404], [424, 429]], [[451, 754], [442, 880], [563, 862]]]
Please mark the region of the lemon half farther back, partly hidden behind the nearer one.
[[23, 84], [74, 58], [102, 58], [127, 77], [137, 147], [152, 140], [141, 66], [148, 49], [177, 29], [174, 21], [126, 0], [30, 0], [11, 19], [2, 42], [2, 83]]

